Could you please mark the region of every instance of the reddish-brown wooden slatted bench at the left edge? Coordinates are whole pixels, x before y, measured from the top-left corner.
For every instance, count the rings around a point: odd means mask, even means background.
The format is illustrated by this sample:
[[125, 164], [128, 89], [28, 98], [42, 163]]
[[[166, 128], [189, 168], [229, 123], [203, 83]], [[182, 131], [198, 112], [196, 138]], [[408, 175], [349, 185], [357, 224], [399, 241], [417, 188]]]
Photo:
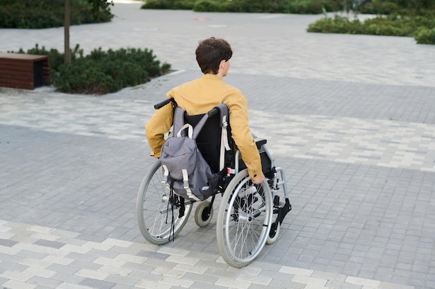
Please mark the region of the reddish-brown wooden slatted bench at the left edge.
[[0, 53], [0, 87], [35, 89], [47, 85], [48, 55]]

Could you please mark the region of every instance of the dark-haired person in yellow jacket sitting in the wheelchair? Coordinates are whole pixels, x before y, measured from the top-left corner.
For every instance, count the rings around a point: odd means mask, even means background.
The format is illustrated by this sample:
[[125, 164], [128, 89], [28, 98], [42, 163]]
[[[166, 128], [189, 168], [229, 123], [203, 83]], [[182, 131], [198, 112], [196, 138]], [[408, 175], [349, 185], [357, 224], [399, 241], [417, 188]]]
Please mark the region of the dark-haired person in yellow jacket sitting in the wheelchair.
[[[229, 60], [233, 55], [231, 46], [226, 40], [210, 37], [199, 42], [195, 53], [204, 75], [171, 89], [167, 98], [174, 98], [177, 105], [189, 115], [204, 114], [220, 103], [227, 105], [231, 136], [240, 150], [252, 182], [261, 184], [265, 177], [261, 171], [260, 155], [248, 126], [246, 98], [240, 90], [222, 80], [227, 76], [230, 67]], [[145, 125], [153, 157], [160, 157], [165, 141], [164, 134], [172, 125], [172, 113], [171, 105], [165, 105], [156, 110]]]

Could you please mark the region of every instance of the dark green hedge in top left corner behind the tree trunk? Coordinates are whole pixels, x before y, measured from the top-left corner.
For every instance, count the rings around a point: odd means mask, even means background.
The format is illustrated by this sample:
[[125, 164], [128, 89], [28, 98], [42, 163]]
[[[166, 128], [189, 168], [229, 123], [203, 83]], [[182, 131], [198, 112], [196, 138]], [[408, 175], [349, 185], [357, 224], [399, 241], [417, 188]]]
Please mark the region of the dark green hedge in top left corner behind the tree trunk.
[[[64, 25], [63, 0], [0, 0], [0, 28], [51, 28]], [[72, 0], [71, 25], [108, 22], [110, 9], [97, 12], [85, 0]]]

